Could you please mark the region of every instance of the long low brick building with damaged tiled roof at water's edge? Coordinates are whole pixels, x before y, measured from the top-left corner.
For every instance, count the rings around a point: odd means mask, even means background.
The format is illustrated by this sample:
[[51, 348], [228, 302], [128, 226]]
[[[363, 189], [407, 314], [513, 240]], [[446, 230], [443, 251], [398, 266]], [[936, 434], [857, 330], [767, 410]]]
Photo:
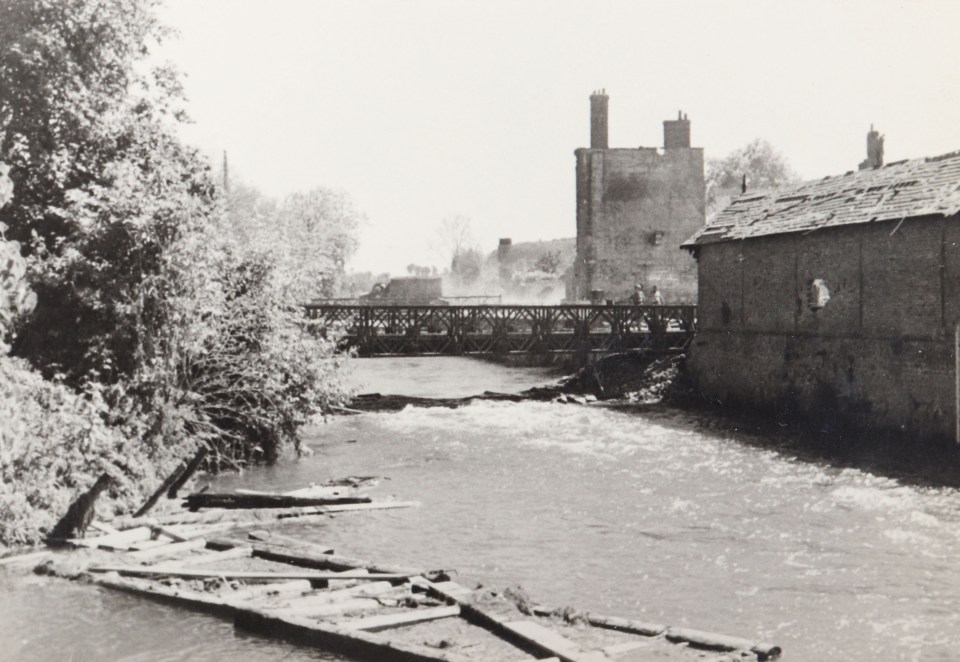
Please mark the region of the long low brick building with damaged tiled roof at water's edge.
[[960, 152], [746, 193], [685, 242], [705, 395], [934, 438], [957, 433]]

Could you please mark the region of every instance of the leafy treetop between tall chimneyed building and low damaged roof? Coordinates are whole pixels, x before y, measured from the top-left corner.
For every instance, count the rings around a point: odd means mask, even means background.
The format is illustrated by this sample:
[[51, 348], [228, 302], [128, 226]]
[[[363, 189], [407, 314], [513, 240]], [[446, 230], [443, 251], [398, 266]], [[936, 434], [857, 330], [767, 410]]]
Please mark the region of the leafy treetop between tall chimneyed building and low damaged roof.
[[787, 160], [766, 140], [757, 138], [722, 159], [707, 161], [707, 220], [739, 195], [743, 178], [747, 189], [767, 189], [798, 181]]

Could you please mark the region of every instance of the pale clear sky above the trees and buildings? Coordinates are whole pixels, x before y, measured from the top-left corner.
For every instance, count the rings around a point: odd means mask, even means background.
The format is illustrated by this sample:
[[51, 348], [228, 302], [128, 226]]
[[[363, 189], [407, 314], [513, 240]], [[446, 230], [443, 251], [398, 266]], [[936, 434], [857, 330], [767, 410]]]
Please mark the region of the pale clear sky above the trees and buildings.
[[803, 178], [960, 149], [960, 2], [166, 0], [159, 57], [185, 74], [184, 138], [266, 194], [347, 192], [355, 271], [449, 264], [576, 235], [589, 96], [610, 146], [662, 146], [687, 113], [720, 158], [769, 141]]

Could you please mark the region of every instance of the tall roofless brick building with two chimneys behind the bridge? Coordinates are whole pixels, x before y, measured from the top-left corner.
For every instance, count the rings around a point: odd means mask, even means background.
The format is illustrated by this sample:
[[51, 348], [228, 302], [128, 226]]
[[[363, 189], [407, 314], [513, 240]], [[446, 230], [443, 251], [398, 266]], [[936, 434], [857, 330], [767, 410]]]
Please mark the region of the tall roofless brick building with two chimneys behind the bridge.
[[567, 292], [626, 299], [635, 283], [657, 286], [669, 303], [695, 303], [695, 261], [680, 243], [704, 223], [703, 149], [690, 147], [683, 114], [663, 123], [663, 150], [611, 149], [609, 97], [590, 97], [590, 147], [577, 161], [577, 257]]

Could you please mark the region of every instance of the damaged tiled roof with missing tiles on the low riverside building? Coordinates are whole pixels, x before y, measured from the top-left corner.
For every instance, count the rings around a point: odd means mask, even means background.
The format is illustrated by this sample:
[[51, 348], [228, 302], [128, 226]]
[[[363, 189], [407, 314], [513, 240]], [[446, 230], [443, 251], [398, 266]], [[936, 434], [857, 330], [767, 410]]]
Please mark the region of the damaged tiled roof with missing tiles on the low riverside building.
[[960, 151], [736, 198], [683, 248], [960, 211]]

